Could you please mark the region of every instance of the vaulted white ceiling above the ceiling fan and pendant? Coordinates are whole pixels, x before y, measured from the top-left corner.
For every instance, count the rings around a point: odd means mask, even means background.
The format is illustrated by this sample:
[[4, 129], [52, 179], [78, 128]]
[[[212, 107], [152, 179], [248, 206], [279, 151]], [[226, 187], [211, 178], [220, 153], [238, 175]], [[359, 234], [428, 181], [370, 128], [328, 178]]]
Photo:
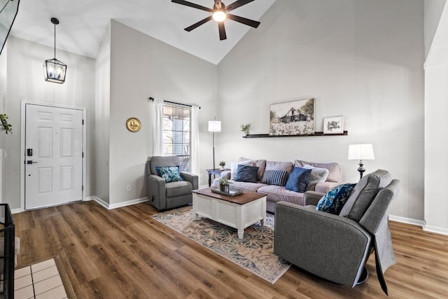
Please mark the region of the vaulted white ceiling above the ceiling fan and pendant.
[[[209, 8], [214, 5], [214, 0], [188, 1]], [[228, 5], [234, 1], [223, 3]], [[235, 9], [232, 14], [259, 20], [275, 1], [255, 0]], [[218, 64], [248, 30], [257, 30], [226, 20], [225, 41], [219, 40], [218, 25], [213, 20], [192, 32], [183, 30], [208, 15], [206, 11], [174, 4], [170, 0], [21, 0], [10, 35], [53, 47], [54, 25], [50, 18], [57, 18], [56, 48], [94, 58], [113, 19]]]

